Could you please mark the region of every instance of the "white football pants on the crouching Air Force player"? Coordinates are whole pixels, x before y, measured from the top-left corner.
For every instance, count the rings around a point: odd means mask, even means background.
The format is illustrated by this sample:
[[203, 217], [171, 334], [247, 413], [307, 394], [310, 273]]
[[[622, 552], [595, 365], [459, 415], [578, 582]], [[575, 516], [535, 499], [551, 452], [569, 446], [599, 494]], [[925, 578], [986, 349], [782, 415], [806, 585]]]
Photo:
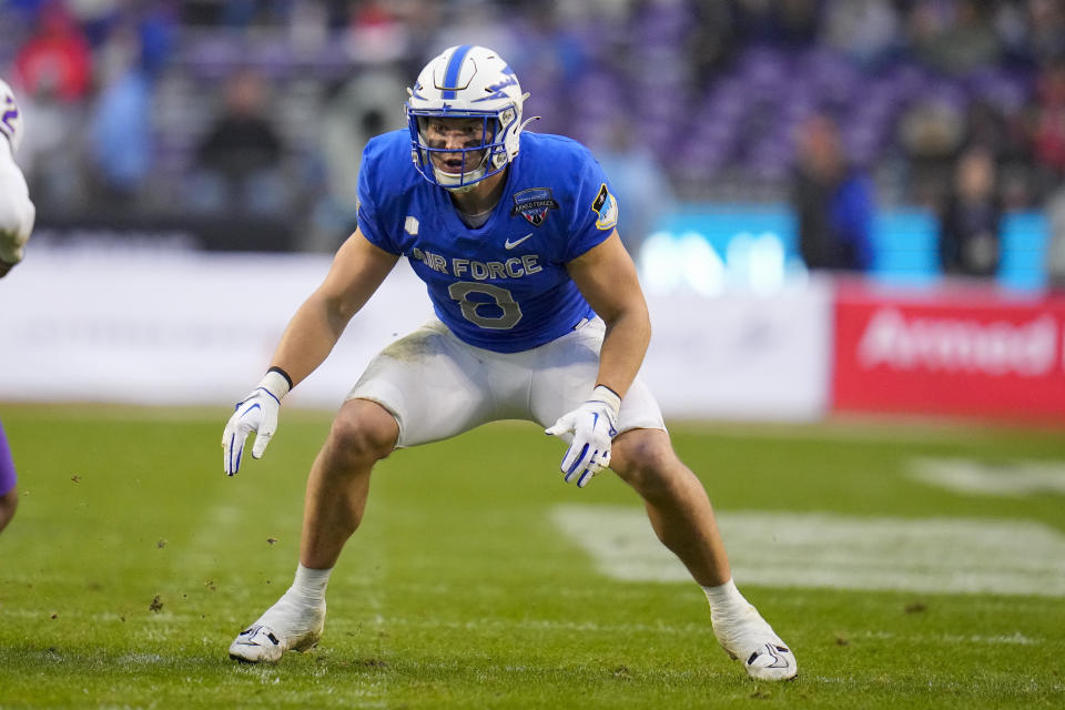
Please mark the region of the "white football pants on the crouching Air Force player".
[[[347, 398], [387, 409], [399, 425], [398, 448], [499, 419], [549, 427], [591, 394], [605, 331], [595, 318], [539, 347], [496, 353], [462, 342], [433, 318], [382, 351]], [[637, 378], [621, 402], [618, 432], [639, 428], [665, 430], [666, 425], [655, 397]]]

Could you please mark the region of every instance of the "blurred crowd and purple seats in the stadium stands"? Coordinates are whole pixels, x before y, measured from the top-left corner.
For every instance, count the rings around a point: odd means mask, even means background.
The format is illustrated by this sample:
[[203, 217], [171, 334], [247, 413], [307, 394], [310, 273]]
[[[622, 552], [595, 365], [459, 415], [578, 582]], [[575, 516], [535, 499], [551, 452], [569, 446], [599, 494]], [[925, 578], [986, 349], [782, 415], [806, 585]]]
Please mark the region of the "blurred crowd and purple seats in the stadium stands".
[[515, 68], [531, 130], [581, 140], [659, 203], [787, 201], [814, 118], [879, 205], [940, 209], [973, 148], [1006, 210], [1042, 209], [1065, 176], [1062, 0], [0, 6], [45, 223], [250, 215], [316, 251], [353, 225], [365, 141], [404, 125], [425, 61], [469, 41]]

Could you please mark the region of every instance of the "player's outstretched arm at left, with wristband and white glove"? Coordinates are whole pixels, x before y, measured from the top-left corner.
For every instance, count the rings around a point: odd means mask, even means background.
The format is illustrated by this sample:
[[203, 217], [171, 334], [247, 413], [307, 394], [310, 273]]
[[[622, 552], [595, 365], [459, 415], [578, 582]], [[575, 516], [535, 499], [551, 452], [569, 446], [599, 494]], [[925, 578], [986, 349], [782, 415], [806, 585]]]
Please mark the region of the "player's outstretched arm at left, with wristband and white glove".
[[226, 474], [240, 470], [244, 443], [252, 432], [256, 433], [252, 456], [262, 457], [277, 429], [281, 398], [325, 361], [352, 316], [369, 301], [398, 258], [371, 244], [358, 230], [344, 242], [325, 281], [288, 322], [270, 372], [230, 417], [222, 435]]

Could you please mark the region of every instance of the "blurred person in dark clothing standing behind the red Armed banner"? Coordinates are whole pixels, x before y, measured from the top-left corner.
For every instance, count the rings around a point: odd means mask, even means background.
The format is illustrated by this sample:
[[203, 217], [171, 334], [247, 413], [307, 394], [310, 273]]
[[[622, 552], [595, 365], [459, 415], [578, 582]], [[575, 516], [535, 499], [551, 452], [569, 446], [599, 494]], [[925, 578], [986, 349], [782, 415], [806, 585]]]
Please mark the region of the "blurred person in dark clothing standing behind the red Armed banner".
[[974, 145], [958, 158], [939, 223], [944, 274], [994, 276], [998, 272], [1002, 201], [995, 159], [988, 149]]

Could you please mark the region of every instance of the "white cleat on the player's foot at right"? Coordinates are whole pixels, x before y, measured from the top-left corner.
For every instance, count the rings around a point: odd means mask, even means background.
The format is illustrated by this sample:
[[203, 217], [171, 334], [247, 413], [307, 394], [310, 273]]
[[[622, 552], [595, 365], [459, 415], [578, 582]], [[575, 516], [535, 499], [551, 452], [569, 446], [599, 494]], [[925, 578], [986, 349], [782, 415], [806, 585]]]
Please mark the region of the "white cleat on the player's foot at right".
[[710, 612], [713, 633], [733, 659], [743, 661], [754, 680], [790, 680], [799, 672], [791, 649], [780, 640], [758, 609], [747, 605], [739, 613]]

